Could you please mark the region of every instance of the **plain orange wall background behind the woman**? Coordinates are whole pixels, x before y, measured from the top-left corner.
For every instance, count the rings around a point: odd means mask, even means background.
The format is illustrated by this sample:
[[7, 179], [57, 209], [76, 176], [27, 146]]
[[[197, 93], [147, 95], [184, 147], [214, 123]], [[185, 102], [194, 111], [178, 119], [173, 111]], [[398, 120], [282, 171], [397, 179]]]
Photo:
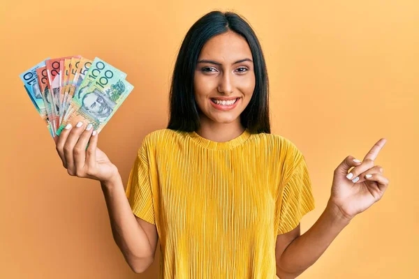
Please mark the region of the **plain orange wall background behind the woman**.
[[333, 171], [362, 160], [390, 186], [299, 278], [418, 278], [419, 4], [417, 1], [1, 1], [1, 278], [157, 278], [135, 274], [112, 239], [98, 181], [69, 176], [18, 75], [59, 56], [99, 56], [135, 86], [99, 135], [124, 184], [142, 138], [166, 128], [182, 38], [213, 9], [246, 17], [270, 77], [272, 133], [304, 153], [316, 209]]

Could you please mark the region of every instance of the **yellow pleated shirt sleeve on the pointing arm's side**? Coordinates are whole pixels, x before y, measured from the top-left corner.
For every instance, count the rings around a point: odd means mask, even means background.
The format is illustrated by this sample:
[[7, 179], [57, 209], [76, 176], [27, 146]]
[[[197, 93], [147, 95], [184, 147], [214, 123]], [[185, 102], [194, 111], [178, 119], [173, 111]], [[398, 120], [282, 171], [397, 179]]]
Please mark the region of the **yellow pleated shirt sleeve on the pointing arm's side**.
[[277, 234], [291, 232], [300, 223], [302, 216], [315, 208], [307, 163], [298, 150], [297, 162], [291, 170], [290, 179], [282, 188]]

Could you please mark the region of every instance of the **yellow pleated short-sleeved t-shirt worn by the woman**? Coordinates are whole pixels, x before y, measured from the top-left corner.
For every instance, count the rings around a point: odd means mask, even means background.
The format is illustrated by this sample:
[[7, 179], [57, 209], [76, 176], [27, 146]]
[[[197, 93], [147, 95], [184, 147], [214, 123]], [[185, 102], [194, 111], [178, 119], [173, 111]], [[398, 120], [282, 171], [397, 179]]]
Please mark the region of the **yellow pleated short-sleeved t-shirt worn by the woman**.
[[214, 142], [161, 129], [142, 140], [126, 197], [155, 224], [161, 278], [276, 278], [275, 244], [315, 207], [304, 156], [267, 133]]

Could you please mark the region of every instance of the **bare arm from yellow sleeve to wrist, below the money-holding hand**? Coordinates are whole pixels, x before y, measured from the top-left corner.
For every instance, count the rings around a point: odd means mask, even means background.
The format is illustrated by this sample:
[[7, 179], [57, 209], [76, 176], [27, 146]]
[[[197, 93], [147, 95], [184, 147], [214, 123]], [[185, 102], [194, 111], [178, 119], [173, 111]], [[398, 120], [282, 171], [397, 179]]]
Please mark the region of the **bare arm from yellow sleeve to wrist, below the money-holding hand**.
[[108, 182], [101, 182], [101, 188], [113, 238], [131, 269], [135, 273], [141, 273], [154, 261], [156, 226], [136, 218], [133, 214], [119, 174]]

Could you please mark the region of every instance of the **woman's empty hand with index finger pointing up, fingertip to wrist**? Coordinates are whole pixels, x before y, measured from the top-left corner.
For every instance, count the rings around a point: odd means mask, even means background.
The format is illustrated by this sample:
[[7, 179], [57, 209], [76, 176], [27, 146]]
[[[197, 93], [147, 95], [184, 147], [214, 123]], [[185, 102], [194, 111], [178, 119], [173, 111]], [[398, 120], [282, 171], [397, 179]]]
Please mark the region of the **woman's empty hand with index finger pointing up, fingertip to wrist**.
[[[383, 176], [383, 167], [374, 165], [385, 142], [385, 138], [378, 140], [362, 162], [356, 163], [353, 156], [348, 156], [335, 169], [330, 202], [337, 206], [344, 218], [351, 220], [365, 211], [378, 202], [387, 190], [390, 181]], [[351, 167], [354, 168], [348, 174]], [[366, 178], [366, 174], [372, 176]]]

